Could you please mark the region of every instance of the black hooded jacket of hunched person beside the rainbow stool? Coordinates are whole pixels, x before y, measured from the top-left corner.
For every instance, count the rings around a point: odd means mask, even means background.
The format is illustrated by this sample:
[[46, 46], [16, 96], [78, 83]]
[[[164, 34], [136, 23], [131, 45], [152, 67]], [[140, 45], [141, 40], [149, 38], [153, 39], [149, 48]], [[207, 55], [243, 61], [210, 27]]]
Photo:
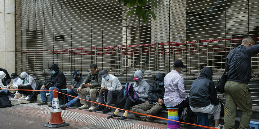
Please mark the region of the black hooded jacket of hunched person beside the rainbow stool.
[[156, 76], [156, 79], [151, 84], [148, 90], [148, 102], [150, 104], [153, 104], [153, 102], [157, 102], [159, 98], [163, 100], [165, 95], [164, 85], [159, 85], [158, 83], [156, 83], [156, 81], [157, 80], [164, 81], [164, 77], [165, 77], [164, 73], [158, 73]]

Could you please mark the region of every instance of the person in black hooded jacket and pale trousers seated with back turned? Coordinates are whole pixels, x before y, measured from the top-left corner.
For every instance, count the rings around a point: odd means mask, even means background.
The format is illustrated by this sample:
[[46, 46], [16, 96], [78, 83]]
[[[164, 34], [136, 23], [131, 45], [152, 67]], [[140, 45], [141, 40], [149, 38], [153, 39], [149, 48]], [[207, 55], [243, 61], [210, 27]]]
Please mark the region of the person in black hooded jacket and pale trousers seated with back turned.
[[[189, 97], [190, 108], [193, 112], [203, 112], [213, 114], [215, 128], [224, 128], [219, 124], [220, 103], [217, 98], [217, 91], [212, 80], [212, 69], [205, 67], [200, 73], [200, 77], [192, 82]], [[210, 117], [210, 116], [209, 116]]]

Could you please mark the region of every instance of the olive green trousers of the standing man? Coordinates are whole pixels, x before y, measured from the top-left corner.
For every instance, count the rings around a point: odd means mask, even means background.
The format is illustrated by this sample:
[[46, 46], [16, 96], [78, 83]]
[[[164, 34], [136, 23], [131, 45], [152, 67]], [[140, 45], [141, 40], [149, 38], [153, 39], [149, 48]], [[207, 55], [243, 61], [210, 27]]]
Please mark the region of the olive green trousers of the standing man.
[[225, 84], [225, 129], [234, 129], [237, 107], [241, 111], [239, 129], [248, 129], [252, 116], [252, 97], [246, 83], [227, 81]]

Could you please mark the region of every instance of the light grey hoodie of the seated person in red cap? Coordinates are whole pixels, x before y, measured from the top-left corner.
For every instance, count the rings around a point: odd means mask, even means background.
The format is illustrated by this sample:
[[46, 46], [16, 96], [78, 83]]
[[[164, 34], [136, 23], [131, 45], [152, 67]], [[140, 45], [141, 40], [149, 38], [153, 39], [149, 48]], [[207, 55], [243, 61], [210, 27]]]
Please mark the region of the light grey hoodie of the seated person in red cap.
[[139, 100], [146, 101], [148, 98], [149, 84], [144, 80], [141, 70], [134, 73], [134, 77], [138, 77], [139, 81], [135, 82], [133, 87], [139, 95]]

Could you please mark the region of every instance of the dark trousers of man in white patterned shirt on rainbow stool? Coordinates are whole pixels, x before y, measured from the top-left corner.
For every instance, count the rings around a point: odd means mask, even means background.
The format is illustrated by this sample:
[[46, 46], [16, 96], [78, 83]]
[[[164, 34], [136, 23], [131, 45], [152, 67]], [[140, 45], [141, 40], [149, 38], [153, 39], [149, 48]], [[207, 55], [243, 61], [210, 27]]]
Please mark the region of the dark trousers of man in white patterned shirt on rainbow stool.
[[[187, 107], [187, 116], [185, 118], [185, 122], [187, 122], [187, 123], [193, 122], [193, 118], [194, 118], [194, 113], [190, 108], [189, 101], [190, 101], [190, 98], [188, 97], [184, 101], [182, 101], [180, 104], [174, 106], [174, 108], [179, 108], [178, 114], [180, 114], [180, 115], [182, 114], [183, 108]], [[179, 117], [181, 117], [180, 115], [179, 115]]]

